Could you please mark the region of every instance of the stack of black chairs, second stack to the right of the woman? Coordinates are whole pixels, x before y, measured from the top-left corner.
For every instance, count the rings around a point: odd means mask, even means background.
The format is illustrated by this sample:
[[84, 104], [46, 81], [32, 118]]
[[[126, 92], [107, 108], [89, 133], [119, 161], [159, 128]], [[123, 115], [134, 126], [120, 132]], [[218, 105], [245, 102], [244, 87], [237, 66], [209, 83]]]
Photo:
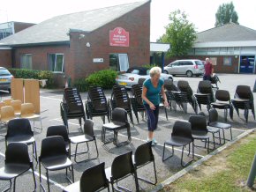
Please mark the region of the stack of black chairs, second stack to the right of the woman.
[[177, 100], [177, 103], [181, 107], [183, 107], [184, 112], [186, 113], [186, 107], [184, 107], [184, 103], [189, 103], [191, 104], [194, 112], [197, 114], [197, 110], [198, 110], [197, 100], [194, 97], [192, 88], [188, 84], [188, 82], [184, 80], [179, 80], [177, 82], [177, 89], [179, 90], [179, 92], [174, 92], [175, 99]]

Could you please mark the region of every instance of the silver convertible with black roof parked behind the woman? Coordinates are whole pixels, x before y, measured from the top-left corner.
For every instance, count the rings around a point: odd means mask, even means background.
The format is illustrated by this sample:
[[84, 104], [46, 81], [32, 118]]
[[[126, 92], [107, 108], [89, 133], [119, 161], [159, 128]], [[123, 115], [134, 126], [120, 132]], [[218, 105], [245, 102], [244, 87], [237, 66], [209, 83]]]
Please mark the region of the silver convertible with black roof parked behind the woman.
[[[138, 84], [139, 78], [150, 78], [149, 70], [144, 67], [132, 67], [129, 68], [124, 74], [120, 74], [116, 78], [117, 85], [124, 85], [126, 88], [132, 88], [132, 85]], [[161, 78], [172, 79], [169, 74], [161, 74]]]

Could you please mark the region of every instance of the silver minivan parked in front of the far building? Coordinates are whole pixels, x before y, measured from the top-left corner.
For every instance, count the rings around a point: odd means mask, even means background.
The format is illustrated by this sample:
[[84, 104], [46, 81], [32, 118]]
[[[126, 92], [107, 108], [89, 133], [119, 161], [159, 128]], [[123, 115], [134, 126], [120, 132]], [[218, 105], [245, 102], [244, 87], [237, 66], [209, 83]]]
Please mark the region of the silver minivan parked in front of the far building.
[[193, 75], [199, 77], [203, 75], [205, 71], [204, 64], [200, 60], [188, 59], [177, 60], [173, 63], [169, 63], [164, 67], [164, 73], [175, 75], [186, 75], [192, 77]]

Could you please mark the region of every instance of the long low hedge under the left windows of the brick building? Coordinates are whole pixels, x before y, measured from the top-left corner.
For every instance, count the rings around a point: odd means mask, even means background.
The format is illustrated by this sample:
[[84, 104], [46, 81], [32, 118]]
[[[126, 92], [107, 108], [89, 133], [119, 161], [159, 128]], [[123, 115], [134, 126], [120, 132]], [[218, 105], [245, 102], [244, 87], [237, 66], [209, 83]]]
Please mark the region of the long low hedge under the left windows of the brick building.
[[48, 79], [47, 87], [52, 87], [53, 73], [49, 70], [26, 70], [26, 69], [8, 69], [14, 78], [34, 78], [34, 79]]

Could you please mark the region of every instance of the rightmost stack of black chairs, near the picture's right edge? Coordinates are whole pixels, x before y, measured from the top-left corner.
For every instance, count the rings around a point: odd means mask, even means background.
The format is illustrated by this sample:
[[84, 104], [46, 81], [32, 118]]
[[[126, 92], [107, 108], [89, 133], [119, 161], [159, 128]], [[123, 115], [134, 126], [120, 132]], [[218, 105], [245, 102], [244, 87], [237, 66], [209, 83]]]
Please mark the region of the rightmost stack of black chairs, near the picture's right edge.
[[238, 116], [239, 116], [239, 109], [245, 110], [246, 123], [248, 122], [248, 114], [250, 109], [252, 110], [252, 115], [255, 120], [253, 94], [250, 86], [237, 85], [234, 99], [231, 100], [231, 102], [232, 102], [232, 105], [235, 107]]

